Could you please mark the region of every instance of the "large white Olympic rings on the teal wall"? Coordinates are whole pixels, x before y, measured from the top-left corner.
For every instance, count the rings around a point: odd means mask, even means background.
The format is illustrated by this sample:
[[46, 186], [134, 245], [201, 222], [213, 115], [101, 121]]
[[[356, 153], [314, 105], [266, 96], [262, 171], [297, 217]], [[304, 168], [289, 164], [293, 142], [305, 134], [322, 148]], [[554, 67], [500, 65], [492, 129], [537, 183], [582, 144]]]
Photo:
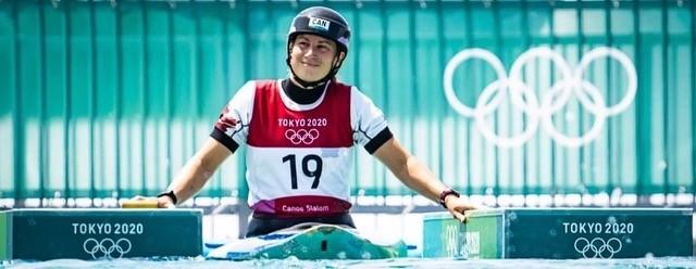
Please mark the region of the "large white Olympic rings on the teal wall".
[[[585, 73], [587, 73], [589, 64], [599, 57], [609, 57], [618, 61], [625, 71], [627, 78], [625, 95], [619, 103], [611, 106], [607, 106], [599, 89], [585, 79]], [[497, 76], [497, 80], [483, 89], [475, 107], [464, 105], [455, 94], [452, 86], [455, 69], [461, 63], [471, 59], [485, 61], [493, 67]], [[532, 87], [523, 80], [522, 76], [522, 67], [535, 59], [551, 61], [560, 72], [560, 78], [547, 91], [543, 91], [540, 100], [536, 97]], [[637, 75], [631, 59], [620, 50], [608, 47], [599, 47], [588, 51], [574, 69], [558, 52], [546, 47], [532, 48], [522, 53], [512, 63], [509, 76], [500, 59], [492, 52], [484, 49], [465, 49], [457, 53], [447, 63], [443, 77], [447, 102], [462, 116], [473, 117], [484, 138], [501, 148], [517, 148], [524, 144], [532, 139], [539, 125], [554, 141], [561, 145], [579, 148], [587, 144], [599, 136], [607, 117], [629, 108], [635, 99], [637, 85]], [[508, 95], [510, 97], [510, 103], [527, 115], [529, 125], [522, 133], [501, 137], [489, 127], [486, 116], [494, 113], [500, 106], [502, 99]], [[595, 116], [595, 123], [591, 129], [579, 137], [561, 133], [552, 121], [552, 116], [563, 108], [571, 97], [577, 98], [581, 105]]]

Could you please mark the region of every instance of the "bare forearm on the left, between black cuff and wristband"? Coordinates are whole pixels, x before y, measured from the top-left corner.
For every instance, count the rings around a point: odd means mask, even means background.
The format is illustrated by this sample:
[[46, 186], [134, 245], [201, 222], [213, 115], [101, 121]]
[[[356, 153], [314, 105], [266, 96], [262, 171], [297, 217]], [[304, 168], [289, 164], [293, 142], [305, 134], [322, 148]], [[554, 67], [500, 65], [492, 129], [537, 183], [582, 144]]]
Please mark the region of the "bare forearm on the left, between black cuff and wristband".
[[[188, 159], [188, 163], [176, 175], [166, 190], [174, 192], [177, 204], [183, 203], [206, 185], [210, 176], [215, 172], [217, 167], [229, 155], [232, 155], [229, 149], [217, 142], [217, 140], [208, 138], [203, 146]], [[165, 195], [158, 197], [157, 204], [160, 208], [174, 206], [172, 198]]]

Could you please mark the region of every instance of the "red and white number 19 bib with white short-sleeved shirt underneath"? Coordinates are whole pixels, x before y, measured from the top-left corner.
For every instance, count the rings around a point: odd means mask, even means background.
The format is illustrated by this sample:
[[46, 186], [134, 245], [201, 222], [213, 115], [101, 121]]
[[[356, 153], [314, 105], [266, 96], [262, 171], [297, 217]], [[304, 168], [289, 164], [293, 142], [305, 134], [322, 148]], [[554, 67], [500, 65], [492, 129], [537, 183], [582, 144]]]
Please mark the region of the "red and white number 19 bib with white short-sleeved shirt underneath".
[[[290, 100], [281, 80], [247, 82], [220, 120], [247, 144], [249, 205], [256, 213], [311, 217], [350, 208], [351, 148], [386, 128], [382, 112], [357, 88], [331, 81], [313, 104]], [[220, 125], [220, 123], [219, 123]]]

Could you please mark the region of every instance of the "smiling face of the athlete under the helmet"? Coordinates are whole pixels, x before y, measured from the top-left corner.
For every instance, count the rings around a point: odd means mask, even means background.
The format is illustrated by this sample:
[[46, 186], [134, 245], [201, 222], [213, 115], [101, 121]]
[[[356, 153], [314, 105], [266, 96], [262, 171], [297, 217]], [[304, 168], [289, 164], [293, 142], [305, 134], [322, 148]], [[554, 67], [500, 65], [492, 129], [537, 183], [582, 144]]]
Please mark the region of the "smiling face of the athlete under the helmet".
[[[314, 35], [298, 35], [290, 51], [290, 66], [304, 81], [318, 81], [326, 76], [336, 59], [336, 43]], [[340, 53], [339, 57], [344, 54]]]

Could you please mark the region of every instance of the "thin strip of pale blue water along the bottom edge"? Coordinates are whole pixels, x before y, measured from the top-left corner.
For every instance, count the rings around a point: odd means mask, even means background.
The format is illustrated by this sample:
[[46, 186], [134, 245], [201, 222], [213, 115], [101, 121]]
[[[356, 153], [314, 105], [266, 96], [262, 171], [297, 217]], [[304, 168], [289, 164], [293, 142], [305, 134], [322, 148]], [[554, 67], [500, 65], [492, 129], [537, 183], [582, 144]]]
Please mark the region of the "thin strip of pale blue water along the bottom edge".
[[399, 258], [384, 260], [206, 260], [182, 259], [119, 259], [85, 261], [55, 259], [49, 261], [21, 261], [4, 264], [9, 268], [696, 268], [694, 257], [663, 257], [639, 259], [420, 259]]

